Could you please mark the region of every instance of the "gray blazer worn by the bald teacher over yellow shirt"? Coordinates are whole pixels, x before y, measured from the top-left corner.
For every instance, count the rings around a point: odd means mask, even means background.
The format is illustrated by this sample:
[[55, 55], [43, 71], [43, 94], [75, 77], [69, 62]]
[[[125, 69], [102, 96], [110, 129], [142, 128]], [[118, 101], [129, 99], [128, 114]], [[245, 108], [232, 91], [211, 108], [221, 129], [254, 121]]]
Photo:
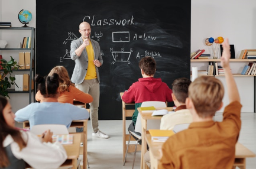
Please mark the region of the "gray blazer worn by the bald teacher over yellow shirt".
[[[101, 56], [101, 48], [99, 47], [99, 43], [95, 40], [90, 39], [90, 42], [92, 43], [93, 51], [94, 51], [94, 59], [97, 59], [103, 64], [103, 59]], [[73, 40], [70, 45], [70, 57], [72, 60], [74, 60], [75, 66], [73, 70], [73, 74], [71, 77], [71, 82], [80, 84], [85, 80], [86, 72], [88, 69], [88, 54], [86, 52], [86, 49], [83, 50], [81, 56], [77, 56], [74, 52], [81, 44], [83, 43], [82, 37], [80, 37], [77, 40]], [[99, 70], [98, 67], [95, 66], [97, 78], [99, 81]]]

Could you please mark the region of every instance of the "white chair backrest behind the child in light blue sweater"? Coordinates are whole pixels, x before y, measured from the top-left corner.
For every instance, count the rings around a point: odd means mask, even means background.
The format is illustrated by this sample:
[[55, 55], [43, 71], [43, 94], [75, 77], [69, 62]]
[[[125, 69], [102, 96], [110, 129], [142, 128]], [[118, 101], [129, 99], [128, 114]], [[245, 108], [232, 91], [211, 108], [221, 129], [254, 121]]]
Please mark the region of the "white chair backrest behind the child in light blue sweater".
[[30, 132], [36, 135], [43, 134], [43, 132], [50, 129], [53, 134], [69, 134], [66, 125], [57, 125], [57, 124], [44, 124], [44, 125], [34, 125]]

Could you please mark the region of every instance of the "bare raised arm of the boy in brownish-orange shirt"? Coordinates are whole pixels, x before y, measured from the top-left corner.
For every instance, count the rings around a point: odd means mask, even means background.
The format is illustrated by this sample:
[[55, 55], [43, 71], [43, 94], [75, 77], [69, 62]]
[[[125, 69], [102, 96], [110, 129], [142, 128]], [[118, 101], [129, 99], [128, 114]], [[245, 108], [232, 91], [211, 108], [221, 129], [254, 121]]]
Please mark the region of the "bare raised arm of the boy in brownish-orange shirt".
[[240, 102], [238, 89], [229, 65], [229, 58], [231, 57], [231, 54], [230, 54], [230, 45], [229, 45], [228, 38], [226, 38], [225, 41], [222, 43], [222, 47], [223, 47], [223, 53], [221, 57], [221, 66], [225, 71], [229, 102], [230, 103], [234, 101]]

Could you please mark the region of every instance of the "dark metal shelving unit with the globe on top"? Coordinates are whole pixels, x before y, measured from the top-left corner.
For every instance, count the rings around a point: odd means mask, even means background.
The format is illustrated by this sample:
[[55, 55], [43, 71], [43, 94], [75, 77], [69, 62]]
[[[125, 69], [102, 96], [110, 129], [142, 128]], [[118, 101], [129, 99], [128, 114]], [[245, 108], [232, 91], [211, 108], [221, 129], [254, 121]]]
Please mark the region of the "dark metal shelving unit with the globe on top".
[[[28, 93], [29, 94], [29, 103], [31, 103], [32, 96], [35, 98], [35, 89], [31, 89], [32, 79], [35, 76], [35, 28], [34, 27], [0, 27], [0, 31], [9, 30], [9, 31], [31, 31], [31, 48], [0, 48], [0, 51], [30, 51], [30, 69], [22, 69], [22, 70], [13, 70], [13, 74], [15, 72], [29, 72], [29, 89], [28, 91], [15, 91], [14, 89], [8, 89], [8, 93]], [[18, 61], [18, 60], [17, 60]], [[34, 64], [34, 68], [33, 65]], [[35, 83], [35, 82], [34, 82]], [[35, 87], [35, 84], [34, 84]], [[35, 100], [35, 99], [34, 99]]]

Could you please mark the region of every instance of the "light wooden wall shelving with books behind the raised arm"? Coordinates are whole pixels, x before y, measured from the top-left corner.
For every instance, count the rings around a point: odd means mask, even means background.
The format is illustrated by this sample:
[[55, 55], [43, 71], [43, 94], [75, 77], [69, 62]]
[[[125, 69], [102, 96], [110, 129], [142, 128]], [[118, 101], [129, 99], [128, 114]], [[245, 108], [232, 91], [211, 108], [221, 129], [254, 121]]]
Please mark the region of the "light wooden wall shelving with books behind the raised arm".
[[[235, 58], [235, 59], [230, 59], [229, 62], [232, 66], [232, 64], [248, 64], [249, 62], [256, 62], [256, 59], [238, 59], [238, 58]], [[215, 65], [215, 63], [218, 63], [218, 65], [221, 65], [221, 59], [220, 58], [217, 58], [217, 59], [213, 59], [213, 58], [208, 58], [208, 59], [191, 59], [190, 60], [190, 66], [193, 67], [194, 64], [197, 64], [197, 66], [199, 64], [204, 64], [204, 63], [208, 63], [208, 64], [213, 64]], [[206, 68], [206, 66], [203, 66]], [[242, 69], [244, 66], [241, 66], [240, 68]], [[214, 74], [213, 76], [214, 77], [223, 77], [224, 75], [216, 75], [215, 74], [215, 66], [214, 66], [214, 70], [213, 70]], [[192, 75], [191, 75], [192, 76]], [[208, 76], [208, 75], [206, 75]], [[233, 76], [235, 77], [253, 77], [254, 78], [254, 113], [256, 112], [256, 105], [255, 105], [255, 102], [256, 102], [256, 94], [255, 94], [255, 87], [256, 87], [256, 75], [242, 75], [241, 72], [240, 73], [235, 73], [233, 74]]]

